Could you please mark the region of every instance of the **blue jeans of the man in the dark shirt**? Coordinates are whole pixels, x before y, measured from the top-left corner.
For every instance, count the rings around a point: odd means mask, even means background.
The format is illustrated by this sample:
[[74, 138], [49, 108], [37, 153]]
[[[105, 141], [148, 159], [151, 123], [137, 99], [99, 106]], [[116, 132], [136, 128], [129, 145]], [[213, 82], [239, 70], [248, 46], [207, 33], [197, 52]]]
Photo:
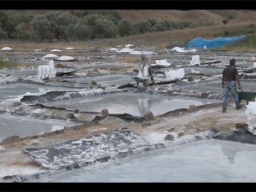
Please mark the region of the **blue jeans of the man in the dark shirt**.
[[228, 97], [229, 97], [230, 92], [231, 92], [231, 94], [234, 98], [234, 101], [236, 103], [236, 107], [240, 106], [240, 102], [239, 102], [238, 96], [237, 96], [236, 81], [226, 81], [225, 84], [224, 84], [222, 108], [227, 108]]

